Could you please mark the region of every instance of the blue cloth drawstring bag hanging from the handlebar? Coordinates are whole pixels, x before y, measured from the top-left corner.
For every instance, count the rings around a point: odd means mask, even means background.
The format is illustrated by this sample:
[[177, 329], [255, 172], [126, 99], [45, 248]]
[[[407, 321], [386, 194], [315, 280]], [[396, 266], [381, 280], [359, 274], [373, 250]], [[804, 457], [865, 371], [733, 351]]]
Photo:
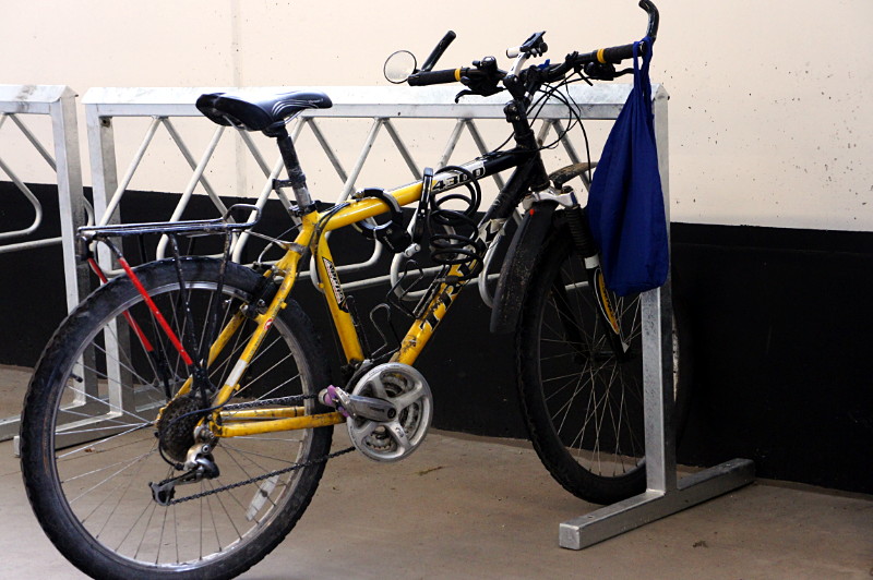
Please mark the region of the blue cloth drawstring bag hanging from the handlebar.
[[619, 295], [661, 286], [670, 267], [648, 78], [653, 41], [643, 41], [643, 65], [639, 43], [634, 43], [634, 86], [603, 146], [588, 195], [588, 222], [603, 278]]

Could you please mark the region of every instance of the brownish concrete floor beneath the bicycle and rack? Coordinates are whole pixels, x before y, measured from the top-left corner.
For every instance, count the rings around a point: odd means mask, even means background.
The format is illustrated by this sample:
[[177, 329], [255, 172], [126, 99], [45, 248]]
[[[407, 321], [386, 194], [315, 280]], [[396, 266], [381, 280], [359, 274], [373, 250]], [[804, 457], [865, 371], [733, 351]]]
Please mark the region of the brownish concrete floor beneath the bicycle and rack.
[[[338, 431], [335, 447], [346, 444]], [[554, 483], [526, 442], [432, 432], [398, 463], [328, 463], [298, 527], [242, 578], [873, 576], [873, 496], [757, 481], [586, 549], [559, 547], [559, 524], [596, 507]], [[37, 525], [11, 442], [0, 443], [0, 578], [83, 578]]]

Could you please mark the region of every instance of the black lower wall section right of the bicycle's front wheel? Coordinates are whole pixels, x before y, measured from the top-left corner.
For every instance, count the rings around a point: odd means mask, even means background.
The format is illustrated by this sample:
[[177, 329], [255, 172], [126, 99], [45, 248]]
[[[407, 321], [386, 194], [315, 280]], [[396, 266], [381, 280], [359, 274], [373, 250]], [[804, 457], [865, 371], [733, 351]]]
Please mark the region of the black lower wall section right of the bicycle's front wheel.
[[695, 341], [680, 459], [873, 493], [873, 233], [674, 223]]

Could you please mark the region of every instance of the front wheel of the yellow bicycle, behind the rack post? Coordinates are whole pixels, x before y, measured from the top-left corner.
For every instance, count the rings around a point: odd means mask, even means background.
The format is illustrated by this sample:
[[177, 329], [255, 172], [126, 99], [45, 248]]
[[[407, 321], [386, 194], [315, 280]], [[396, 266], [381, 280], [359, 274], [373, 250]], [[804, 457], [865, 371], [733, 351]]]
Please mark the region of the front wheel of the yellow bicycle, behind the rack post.
[[[645, 491], [639, 297], [612, 297], [625, 354], [614, 352], [585, 264], [557, 219], [531, 273], [516, 333], [522, 410], [552, 476], [587, 502], [612, 504]], [[684, 422], [689, 373], [673, 318], [674, 424]]]

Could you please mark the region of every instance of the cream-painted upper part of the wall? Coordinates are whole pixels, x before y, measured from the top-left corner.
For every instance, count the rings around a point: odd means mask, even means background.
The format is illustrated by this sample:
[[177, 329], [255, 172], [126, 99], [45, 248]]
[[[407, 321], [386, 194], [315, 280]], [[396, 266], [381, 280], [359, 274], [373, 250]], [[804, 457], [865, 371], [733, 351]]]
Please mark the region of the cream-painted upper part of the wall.
[[[671, 95], [672, 219], [873, 230], [873, 1], [658, 4], [651, 77]], [[644, 26], [632, 0], [543, 0], [536, 9], [517, 0], [32, 0], [0, 20], [0, 83], [67, 84], [80, 94], [386, 84], [385, 56], [410, 48], [423, 58], [449, 28], [458, 38], [445, 67], [500, 56], [538, 29], [560, 59], [636, 39]], [[4, 159], [19, 155], [3, 147], [0, 138]], [[87, 174], [84, 149], [83, 159]], [[33, 166], [23, 177], [49, 180]], [[148, 170], [154, 179], [136, 184], [162, 184], [166, 167]]]

